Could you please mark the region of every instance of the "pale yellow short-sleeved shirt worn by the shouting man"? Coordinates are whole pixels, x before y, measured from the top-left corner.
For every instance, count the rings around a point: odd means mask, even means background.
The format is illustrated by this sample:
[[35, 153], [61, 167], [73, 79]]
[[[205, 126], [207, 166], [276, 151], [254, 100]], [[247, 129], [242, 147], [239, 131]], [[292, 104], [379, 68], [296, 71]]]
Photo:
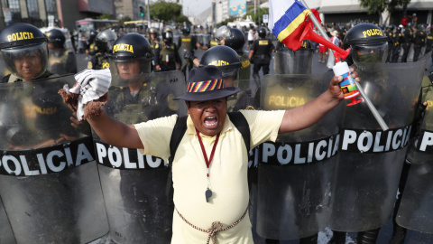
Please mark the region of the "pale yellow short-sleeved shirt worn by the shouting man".
[[[241, 110], [251, 132], [251, 148], [265, 141], [275, 141], [284, 111]], [[144, 155], [155, 155], [168, 161], [170, 136], [176, 115], [161, 117], [134, 125], [143, 141]], [[217, 136], [201, 135], [207, 157]], [[243, 215], [249, 200], [247, 167], [248, 155], [244, 139], [228, 116], [217, 143], [214, 158], [209, 166], [212, 197], [206, 202], [207, 166], [192, 119], [188, 117], [187, 131], [180, 141], [172, 165], [176, 209], [198, 228], [207, 230], [212, 222], [220, 221], [223, 227], [233, 224]], [[161, 189], [163, 191], [163, 189]], [[179, 214], [173, 213], [171, 243], [199, 243], [207, 240], [207, 233], [195, 230]], [[229, 230], [217, 233], [217, 243], [253, 243], [248, 214], [244, 220]]]

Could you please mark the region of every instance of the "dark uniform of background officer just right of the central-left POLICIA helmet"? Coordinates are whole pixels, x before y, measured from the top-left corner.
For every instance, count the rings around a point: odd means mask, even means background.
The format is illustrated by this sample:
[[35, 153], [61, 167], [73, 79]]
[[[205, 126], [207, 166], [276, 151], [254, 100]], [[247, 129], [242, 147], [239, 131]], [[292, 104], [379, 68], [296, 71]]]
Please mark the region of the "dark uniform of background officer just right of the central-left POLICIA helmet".
[[176, 63], [180, 63], [178, 48], [175, 43], [156, 44], [154, 60], [155, 66], [160, 65], [161, 71], [176, 70]]

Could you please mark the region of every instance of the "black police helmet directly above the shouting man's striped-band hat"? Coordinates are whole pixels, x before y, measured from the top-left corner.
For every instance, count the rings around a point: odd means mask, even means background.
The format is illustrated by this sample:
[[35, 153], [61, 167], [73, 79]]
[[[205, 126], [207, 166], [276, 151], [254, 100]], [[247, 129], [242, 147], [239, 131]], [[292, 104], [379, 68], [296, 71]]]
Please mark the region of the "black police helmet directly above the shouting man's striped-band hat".
[[215, 65], [223, 73], [223, 78], [232, 77], [238, 80], [239, 69], [242, 62], [237, 55], [237, 52], [227, 46], [211, 47], [203, 54], [200, 60], [199, 67]]

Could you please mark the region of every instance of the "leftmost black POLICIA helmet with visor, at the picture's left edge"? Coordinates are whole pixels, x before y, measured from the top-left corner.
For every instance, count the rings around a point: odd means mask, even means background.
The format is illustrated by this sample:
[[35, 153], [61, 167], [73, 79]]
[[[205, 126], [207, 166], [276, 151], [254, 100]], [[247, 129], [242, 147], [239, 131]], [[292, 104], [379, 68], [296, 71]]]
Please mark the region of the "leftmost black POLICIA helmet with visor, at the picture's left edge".
[[[14, 23], [5, 27], [0, 33], [0, 52], [7, 69], [20, 79], [40, 77], [48, 66], [47, 41], [41, 30], [30, 23]], [[32, 73], [22, 74], [20, 69], [15, 68], [14, 61], [23, 59], [36, 60], [41, 69], [38, 67]]]

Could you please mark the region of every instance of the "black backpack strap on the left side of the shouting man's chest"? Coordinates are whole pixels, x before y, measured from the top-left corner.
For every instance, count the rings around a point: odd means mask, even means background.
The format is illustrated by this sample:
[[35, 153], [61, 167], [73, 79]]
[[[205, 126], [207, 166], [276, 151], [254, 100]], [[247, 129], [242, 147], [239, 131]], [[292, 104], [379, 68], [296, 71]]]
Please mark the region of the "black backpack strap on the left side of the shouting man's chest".
[[171, 173], [171, 167], [173, 165], [174, 155], [180, 145], [185, 131], [187, 131], [187, 118], [188, 116], [178, 117], [176, 124], [174, 125], [173, 132], [170, 137], [170, 157], [169, 157], [169, 175], [167, 177], [167, 185], [165, 187], [165, 195], [169, 205], [173, 205], [173, 175]]

